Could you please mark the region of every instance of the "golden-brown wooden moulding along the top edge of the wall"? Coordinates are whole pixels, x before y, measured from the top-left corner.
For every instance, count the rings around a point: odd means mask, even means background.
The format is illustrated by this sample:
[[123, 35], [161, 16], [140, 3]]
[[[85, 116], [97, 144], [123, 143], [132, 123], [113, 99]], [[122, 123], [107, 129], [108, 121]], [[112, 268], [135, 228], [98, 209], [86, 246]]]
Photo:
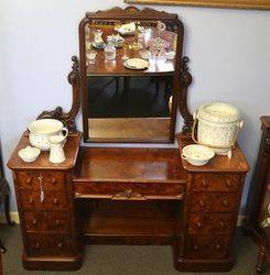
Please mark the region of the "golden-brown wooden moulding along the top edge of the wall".
[[269, 0], [125, 0], [126, 3], [270, 10]]

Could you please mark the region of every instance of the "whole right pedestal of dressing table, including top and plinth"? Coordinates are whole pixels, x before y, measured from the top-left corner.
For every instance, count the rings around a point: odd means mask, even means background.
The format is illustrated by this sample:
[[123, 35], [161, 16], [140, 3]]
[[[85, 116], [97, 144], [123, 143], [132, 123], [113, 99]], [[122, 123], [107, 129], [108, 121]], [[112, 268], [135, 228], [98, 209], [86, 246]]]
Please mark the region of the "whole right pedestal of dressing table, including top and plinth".
[[[191, 143], [177, 135], [180, 151]], [[175, 258], [179, 270], [230, 271], [234, 265], [234, 235], [242, 187], [249, 165], [238, 145], [233, 157], [216, 155], [204, 166], [182, 160], [187, 173], [184, 204], [183, 249]]]

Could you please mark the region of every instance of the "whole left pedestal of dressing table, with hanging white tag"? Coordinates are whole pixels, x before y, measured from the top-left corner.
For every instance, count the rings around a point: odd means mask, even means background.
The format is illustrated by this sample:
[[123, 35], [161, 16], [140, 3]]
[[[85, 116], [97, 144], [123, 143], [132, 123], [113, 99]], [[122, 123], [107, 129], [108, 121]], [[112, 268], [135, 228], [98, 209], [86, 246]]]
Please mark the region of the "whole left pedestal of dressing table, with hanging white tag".
[[48, 152], [42, 152], [33, 163], [24, 163], [17, 156], [21, 147], [29, 145], [24, 134], [8, 163], [13, 170], [23, 240], [22, 260], [28, 270], [80, 267], [72, 182], [79, 138], [68, 138], [66, 161], [54, 165], [48, 162]]

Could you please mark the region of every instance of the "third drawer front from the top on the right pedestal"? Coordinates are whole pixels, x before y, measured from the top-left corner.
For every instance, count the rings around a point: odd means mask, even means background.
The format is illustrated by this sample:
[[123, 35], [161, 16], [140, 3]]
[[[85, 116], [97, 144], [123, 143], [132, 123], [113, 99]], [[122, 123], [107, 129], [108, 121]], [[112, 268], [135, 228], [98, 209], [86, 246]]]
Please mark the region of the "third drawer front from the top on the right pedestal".
[[234, 217], [227, 213], [197, 215], [188, 217], [190, 234], [227, 234], [234, 230]]

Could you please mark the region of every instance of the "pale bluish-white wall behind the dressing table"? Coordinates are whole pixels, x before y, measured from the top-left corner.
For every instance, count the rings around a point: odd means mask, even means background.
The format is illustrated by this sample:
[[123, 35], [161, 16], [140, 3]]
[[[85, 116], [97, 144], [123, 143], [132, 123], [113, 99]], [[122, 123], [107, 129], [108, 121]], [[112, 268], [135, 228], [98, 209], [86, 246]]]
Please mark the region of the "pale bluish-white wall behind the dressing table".
[[[36, 114], [58, 105], [69, 108], [66, 76], [71, 56], [78, 54], [78, 23], [86, 11], [114, 6], [125, 4], [121, 0], [0, 0], [0, 136], [6, 163]], [[194, 77], [192, 111], [209, 100], [236, 105], [246, 121], [239, 142], [253, 165], [259, 117], [269, 113], [270, 103], [270, 13], [155, 8], [177, 12], [185, 25], [184, 53], [191, 57]], [[80, 116], [77, 122], [82, 124]], [[8, 168], [6, 173], [12, 185]], [[242, 207], [245, 200], [246, 196]]]

